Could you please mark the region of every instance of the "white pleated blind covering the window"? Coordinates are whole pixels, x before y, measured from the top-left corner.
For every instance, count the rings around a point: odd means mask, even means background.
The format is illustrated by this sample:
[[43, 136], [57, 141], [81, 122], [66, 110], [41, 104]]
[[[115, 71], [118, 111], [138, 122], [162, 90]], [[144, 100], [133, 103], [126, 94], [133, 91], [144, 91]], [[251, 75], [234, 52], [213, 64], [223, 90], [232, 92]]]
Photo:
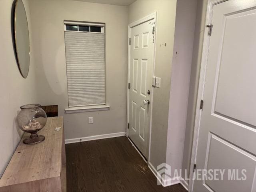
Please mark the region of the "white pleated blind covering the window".
[[105, 35], [65, 31], [68, 106], [106, 104]]

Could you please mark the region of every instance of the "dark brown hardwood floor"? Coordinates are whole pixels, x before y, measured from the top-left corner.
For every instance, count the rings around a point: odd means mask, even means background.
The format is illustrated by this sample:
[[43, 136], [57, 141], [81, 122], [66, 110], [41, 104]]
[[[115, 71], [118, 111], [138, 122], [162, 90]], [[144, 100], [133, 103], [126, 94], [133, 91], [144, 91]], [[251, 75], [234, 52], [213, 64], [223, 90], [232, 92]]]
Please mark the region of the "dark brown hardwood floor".
[[67, 192], [186, 192], [163, 188], [125, 137], [66, 144]]

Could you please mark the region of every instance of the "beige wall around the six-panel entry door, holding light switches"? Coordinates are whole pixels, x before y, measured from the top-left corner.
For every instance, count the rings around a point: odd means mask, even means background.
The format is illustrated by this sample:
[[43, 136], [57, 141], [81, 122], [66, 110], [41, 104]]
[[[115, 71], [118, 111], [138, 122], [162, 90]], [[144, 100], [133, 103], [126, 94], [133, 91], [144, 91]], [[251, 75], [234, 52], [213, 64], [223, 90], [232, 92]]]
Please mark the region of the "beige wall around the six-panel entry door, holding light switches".
[[[166, 160], [176, 0], [137, 0], [129, 6], [129, 23], [155, 11], [157, 11], [157, 26], [154, 75], [161, 78], [161, 88], [154, 88], [152, 106], [150, 163], [154, 168]], [[166, 46], [160, 46], [164, 43]]]

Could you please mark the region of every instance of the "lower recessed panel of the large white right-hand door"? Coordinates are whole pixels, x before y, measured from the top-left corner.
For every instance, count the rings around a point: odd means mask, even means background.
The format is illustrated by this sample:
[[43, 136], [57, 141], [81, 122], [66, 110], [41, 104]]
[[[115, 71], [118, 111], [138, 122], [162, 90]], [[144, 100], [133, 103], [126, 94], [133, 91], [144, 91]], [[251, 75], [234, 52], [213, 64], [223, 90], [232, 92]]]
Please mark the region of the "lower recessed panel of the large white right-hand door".
[[[255, 169], [251, 168], [256, 166], [255, 156], [209, 132], [205, 162], [206, 170], [225, 170], [223, 180], [220, 176], [218, 176], [219, 180], [204, 180], [203, 185], [206, 188], [213, 189], [215, 192], [251, 191], [255, 174]], [[226, 170], [227, 168], [230, 171]], [[242, 180], [244, 179], [244, 175], [241, 174], [243, 169], [246, 170], [246, 180]], [[238, 180], [232, 180], [234, 178]], [[227, 184], [228, 180], [230, 181]]]

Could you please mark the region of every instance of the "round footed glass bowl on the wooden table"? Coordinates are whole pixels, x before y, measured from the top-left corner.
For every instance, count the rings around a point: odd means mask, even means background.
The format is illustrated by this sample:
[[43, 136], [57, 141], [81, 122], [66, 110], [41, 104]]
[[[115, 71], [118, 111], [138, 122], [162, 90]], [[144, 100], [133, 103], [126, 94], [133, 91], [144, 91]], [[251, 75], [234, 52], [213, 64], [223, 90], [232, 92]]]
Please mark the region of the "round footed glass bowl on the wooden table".
[[21, 111], [17, 116], [18, 127], [24, 131], [30, 133], [29, 138], [25, 138], [23, 143], [36, 144], [42, 142], [45, 137], [38, 135], [36, 132], [41, 130], [46, 122], [47, 116], [40, 104], [27, 104], [20, 107]]

